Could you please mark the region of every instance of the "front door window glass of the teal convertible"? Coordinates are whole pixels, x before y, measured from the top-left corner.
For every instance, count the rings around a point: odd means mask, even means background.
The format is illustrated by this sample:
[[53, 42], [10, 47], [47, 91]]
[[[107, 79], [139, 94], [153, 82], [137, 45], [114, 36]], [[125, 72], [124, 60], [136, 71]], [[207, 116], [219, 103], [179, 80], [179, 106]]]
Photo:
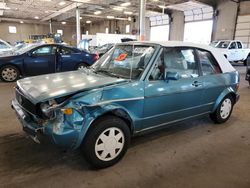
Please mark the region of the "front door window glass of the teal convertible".
[[166, 48], [164, 50], [166, 79], [168, 74], [178, 74], [180, 79], [198, 77], [198, 63], [190, 48]]

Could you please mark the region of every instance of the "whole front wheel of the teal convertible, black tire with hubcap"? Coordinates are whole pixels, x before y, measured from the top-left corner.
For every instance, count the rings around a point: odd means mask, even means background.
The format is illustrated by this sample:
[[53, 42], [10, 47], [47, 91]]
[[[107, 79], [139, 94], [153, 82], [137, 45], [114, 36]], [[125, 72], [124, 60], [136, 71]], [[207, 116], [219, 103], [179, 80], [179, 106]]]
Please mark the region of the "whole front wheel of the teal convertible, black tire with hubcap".
[[[110, 135], [112, 131], [113, 137]], [[103, 136], [109, 138], [103, 141]], [[121, 138], [119, 138], [120, 136]], [[130, 144], [130, 138], [130, 129], [125, 121], [110, 115], [101, 117], [91, 125], [83, 141], [82, 149], [84, 157], [94, 168], [100, 169], [112, 166], [120, 161], [125, 155]]]

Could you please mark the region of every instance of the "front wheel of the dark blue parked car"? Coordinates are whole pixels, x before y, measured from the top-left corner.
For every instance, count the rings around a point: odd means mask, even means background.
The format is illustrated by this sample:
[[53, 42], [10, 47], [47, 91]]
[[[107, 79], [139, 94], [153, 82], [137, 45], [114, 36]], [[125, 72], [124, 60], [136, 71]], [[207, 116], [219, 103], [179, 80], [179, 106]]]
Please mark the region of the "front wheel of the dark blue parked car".
[[13, 65], [5, 65], [0, 69], [0, 79], [4, 82], [15, 82], [20, 77], [20, 71]]

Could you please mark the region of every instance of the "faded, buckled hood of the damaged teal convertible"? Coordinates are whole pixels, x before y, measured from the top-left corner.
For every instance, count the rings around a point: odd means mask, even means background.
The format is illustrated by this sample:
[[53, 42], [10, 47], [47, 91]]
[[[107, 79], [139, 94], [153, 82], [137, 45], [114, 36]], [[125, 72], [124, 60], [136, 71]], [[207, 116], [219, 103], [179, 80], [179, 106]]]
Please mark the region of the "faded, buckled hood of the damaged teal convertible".
[[71, 71], [29, 77], [17, 81], [18, 88], [34, 104], [81, 91], [126, 82], [89, 71]]

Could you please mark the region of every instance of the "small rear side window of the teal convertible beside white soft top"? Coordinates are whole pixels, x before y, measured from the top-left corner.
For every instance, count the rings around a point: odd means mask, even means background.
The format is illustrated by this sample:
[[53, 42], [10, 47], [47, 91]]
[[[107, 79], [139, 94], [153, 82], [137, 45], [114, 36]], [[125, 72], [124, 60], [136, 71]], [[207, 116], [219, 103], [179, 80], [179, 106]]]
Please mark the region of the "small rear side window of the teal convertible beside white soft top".
[[210, 52], [198, 50], [198, 55], [201, 63], [201, 70], [204, 76], [221, 73], [220, 66]]

